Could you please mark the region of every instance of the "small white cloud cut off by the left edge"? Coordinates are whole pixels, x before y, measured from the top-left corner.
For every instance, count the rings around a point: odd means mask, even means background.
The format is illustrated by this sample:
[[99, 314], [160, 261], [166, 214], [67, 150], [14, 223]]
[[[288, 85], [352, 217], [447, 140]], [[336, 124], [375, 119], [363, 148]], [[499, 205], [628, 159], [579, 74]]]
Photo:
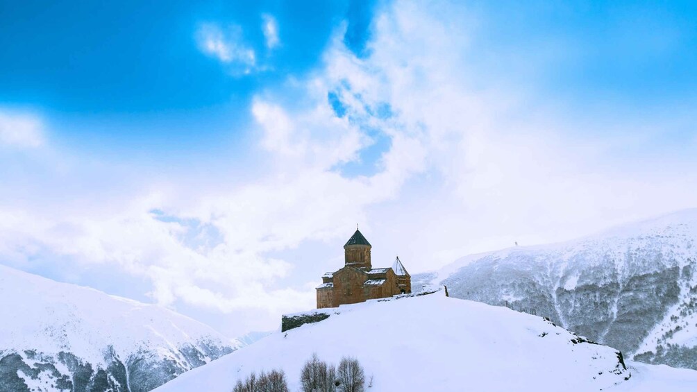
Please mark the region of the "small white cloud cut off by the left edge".
[[44, 142], [43, 124], [36, 116], [0, 109], [0, 144], [36, 148]]

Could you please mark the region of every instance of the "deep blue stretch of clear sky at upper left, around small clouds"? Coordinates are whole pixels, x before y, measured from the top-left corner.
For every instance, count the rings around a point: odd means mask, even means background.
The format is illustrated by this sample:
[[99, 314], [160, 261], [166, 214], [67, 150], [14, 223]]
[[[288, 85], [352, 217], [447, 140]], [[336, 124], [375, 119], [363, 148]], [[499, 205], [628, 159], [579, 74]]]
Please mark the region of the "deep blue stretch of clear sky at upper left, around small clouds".
[[[249, 125], [251, 97], [321, 61], [338, 22], [360, 51], [370, 3], [93, 1], [3, 3], [0, 102], [50, 116], [59, 139], [84, 148], [188, 152], [234, 145]], [[263, 15], [282, 24], [266, 48]], [[201, 54], [203, 24], [240, 29], [268, 70], [240, 77]], [[231, 138], [233, 131], [236, 137]], [[109, 151], [107, 151], [108, 153]]]

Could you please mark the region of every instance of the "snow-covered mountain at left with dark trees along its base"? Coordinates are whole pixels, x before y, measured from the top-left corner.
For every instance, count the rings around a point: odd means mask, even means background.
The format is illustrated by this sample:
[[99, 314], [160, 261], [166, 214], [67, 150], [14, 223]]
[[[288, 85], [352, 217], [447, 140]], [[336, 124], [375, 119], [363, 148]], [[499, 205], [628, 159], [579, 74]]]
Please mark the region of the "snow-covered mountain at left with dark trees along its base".
[[233, 343], [160, 306], [0, 265], [0, 392], [145, 392]]

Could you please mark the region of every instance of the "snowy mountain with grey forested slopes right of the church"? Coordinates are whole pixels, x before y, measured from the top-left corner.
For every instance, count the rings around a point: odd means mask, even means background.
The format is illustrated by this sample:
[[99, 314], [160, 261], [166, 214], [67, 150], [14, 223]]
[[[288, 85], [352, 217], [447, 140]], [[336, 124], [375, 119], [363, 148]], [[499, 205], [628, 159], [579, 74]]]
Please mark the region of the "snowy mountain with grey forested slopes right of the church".
[[467, 256], [412, 281], [553, 322], [646, 363], [697, 369], [697, 210]]

